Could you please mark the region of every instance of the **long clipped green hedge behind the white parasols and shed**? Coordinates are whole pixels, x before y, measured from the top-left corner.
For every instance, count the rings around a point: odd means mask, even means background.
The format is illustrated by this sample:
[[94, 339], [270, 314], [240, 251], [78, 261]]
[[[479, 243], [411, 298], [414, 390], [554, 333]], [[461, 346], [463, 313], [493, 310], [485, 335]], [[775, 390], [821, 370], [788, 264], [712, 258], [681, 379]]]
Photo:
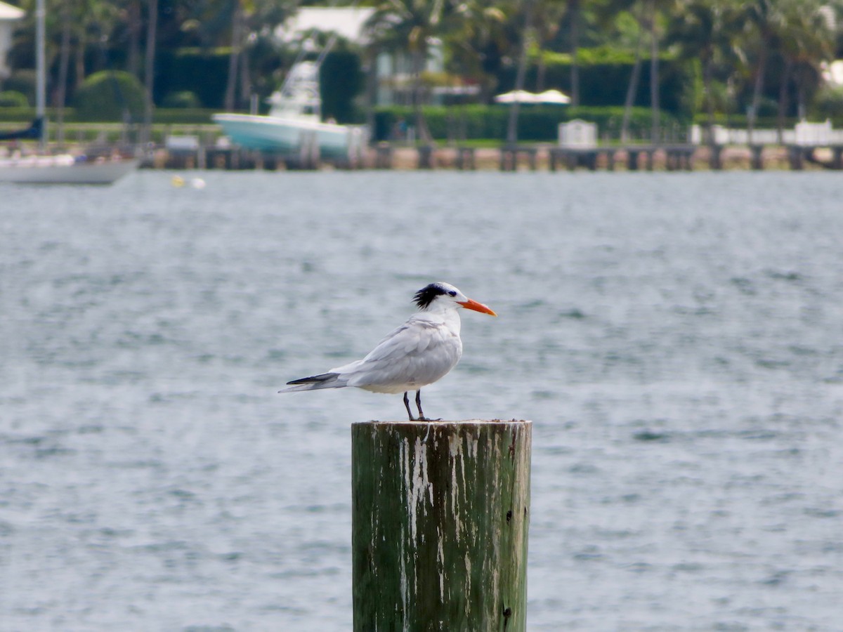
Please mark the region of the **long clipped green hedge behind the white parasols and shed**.
[[[509, 106], [507, 105], [463, 105], [452, 107], [424, 108], [427, 126], [432, 137], [448, 139], [497, 139], [507, 137]], [[583, 119], [597, 123], [600, 136], [620, 136], [623, 121], [622, 107], [579, 107], [551, 105], [522, 105], [518, 112], [519, 141], [556, 141], [558, 126], [563, 121]], [[662, 113], [662, 125], [683, 126], [674, 116]], [[414, 125], [412, 108], [390, 107], [375, 110], [373, 137], [376, 141], [395, 138], [395, 131], [404, 121]], [[633, 137], [647, 136], [652, 120], [648, 108], [633, 108], [630, 131]]]

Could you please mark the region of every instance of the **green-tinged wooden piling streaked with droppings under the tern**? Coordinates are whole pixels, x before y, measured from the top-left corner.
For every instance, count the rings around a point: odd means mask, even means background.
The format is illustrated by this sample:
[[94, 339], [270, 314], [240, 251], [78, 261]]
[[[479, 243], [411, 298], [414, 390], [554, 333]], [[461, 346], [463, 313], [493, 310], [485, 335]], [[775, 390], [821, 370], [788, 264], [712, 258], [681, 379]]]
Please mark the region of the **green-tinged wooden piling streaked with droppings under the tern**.
[[529, 421], [352, 425], [355, 632], [524, 632]]

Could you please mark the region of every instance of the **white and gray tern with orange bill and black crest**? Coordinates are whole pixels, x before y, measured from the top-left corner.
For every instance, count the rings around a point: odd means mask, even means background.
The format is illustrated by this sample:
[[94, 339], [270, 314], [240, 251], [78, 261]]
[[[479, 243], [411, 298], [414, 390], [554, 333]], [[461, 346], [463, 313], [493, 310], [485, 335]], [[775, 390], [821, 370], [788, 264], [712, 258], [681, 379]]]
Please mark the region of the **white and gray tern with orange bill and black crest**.
[[[283, 388], [278, 393], [346, 386], [373, 393], [403, 393], [410, 420], [431, 421], [421, 412], [421, 387], [447, 375], [463, 355], [463, 342], [459, 340], [459, 309], [472, 309], [491, 316], [497, 316], [497, 313], [443, 282], [422, 287], [413, 300], [419, 311], [381, 340], [368, 356], [326, 373], [287, 382], [290, 388]], [[410, 391], [416, 391], [417, 418], [410, 410], [407, 396]]]

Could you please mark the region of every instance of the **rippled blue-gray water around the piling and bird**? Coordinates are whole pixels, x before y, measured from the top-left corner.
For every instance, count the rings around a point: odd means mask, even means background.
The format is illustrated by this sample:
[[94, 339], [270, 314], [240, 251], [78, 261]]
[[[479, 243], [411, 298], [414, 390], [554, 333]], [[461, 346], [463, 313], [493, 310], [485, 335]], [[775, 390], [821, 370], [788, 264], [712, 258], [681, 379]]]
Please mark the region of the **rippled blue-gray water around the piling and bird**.
[[[0, 189], [0, 629], [347, 630], [350, 431], [276, 393], [449, 281], [534, 420], [530, 630], [843, 629], [843, 179], [142, 172]], [[202, 189], [190, 185], [202, 178]]]

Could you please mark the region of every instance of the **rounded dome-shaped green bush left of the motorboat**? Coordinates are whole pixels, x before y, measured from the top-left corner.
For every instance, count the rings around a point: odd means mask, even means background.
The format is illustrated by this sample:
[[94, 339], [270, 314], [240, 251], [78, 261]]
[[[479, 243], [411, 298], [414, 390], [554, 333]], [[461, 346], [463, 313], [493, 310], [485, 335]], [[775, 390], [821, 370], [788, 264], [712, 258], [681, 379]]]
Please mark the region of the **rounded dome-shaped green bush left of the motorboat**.
[[128, 72], [104, 70], [86, 78], [73, 99], [81, 121], [139, 121], [145, 90]]

